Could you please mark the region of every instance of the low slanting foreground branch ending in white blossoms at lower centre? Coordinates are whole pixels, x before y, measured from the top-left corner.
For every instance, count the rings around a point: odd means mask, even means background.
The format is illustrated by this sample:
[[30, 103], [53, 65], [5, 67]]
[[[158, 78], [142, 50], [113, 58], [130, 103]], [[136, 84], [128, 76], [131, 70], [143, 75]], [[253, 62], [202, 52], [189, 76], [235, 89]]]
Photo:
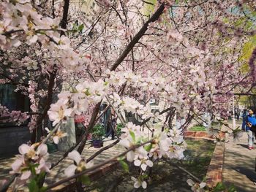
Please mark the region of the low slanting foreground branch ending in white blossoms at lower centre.
[[[134, 162], [135, 166], [140, 167], [142, 174], [146, 171], [147, 166], [153, 166], [153, 162], [150, 160], [150, 158], [154, 158], [156, 160], [158, 158], [162, 158], [162, 155], [164, 154], [167, 155], [168, 158], [181, 158], [183, 156], [183, 137], [181, 136], [180, 130], [173, 129], [167, 131], [167, 135], [165, 135], [165, 131], [159, 130], [155, 134], [154, 138], [149, 139], [146, 142], [143, 142], [143, 139], [145, 138], [143, 138], [143, 133], [140, 132], [140, 126], [135, 126], [132, 125], [132, 123], [128, 123], [127, 127], [123, 129], [123, 131], [124, 133], [121, 135], [122, 139], [120, 144], [127, 148], [124, 153], [121, 153], [120, 155], [117, 155], [116, 157], [91, 168], [88, 168], [86, 164], [81, 163], [80, 155], [75, 155], [76, 157], [72, 155], [72, 153], [79, 154], [78, 152], [69, 153], [69, 157], [76, 161], [76, 166], [72, 165], [70, 168], [65, 170], [65, 173], [68, 176], [67, 179], [49, 185], [47, 189], [54, 188], [57, 185], [61, 185], [69, 180], [81, 177], [83, 174], [91, 172], [94, 169], [98, 169], [99, 167], [112, 161], [116, 161], [119, 157], [123, 157], [124, 155], [127, 156], [127, 161]], [[113, 143], [113, 145], [114, 144], [116, 144], [116, 142]], [[94, 155], [97, 155], [97, 153]], [[94, 157], [94, 155], [92, 157]], [[85, 160], [85, 162], [90, 160], [91, 159]], [[132, 180], [135, 180], [135, 178], [132, 177]], [[143, 188], [146, 188], [146, 182], [142, 180], [142, 177], [135, 180], [135, 188], [140, 187], [139, 184], [141, 184]]]

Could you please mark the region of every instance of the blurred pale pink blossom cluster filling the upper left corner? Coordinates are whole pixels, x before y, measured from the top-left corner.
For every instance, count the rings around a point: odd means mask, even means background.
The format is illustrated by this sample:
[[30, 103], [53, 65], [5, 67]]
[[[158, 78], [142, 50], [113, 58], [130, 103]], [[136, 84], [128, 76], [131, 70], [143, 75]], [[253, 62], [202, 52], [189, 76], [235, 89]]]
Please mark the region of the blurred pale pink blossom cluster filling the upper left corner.
[[[0, 4], [0, 46], [3, 50], [11, 47], [26, 45], [35, 46], [40, 42], [40, 48], [45, 52], [45, 61], [51, 67], [55, 63], [65, 69], [78, 69], [83, 64], [80, 54], [75, 53], [70, 47], [68, 37], [59, 31], [61, 18], [43, 17], [32, 7], [30, 0], [7, 1]], [[27, 70], [37, 69], [36, 61], [29, 57], [23, 58]]]

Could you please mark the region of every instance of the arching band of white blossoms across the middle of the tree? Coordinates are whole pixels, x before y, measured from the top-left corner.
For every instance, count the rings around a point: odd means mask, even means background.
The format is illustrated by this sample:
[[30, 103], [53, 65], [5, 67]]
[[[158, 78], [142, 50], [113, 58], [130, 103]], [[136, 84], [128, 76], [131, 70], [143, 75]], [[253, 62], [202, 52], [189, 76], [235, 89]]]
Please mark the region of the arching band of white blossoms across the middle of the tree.
[[[55, 104], [51, 104], [48, 115], [50, 120], [53, 120], [53, 126], [61, 120], [64, 122], [67, 117], [86, 113], [91, 104], [97, 104], [105, 96], [110, 95], [113, 106], [118, 110], [138, 113], [142, 119], [157, 118], [151, 112], [151, 108], [140, 104], [140, 101], [129, 96], [119, 96], [116, 93], [115, 87], [123, 85], [124, 82], [129, 82], [131, 86], [142, 88], [143, 90], [154, 90], [159, 93], [162, 98], [167, 97], [169, 101], [180, 104], [181, 96], [175, 93], [174, 85], [163, 81], [161, 77], [141, 77], [130, 71], [127, 72], [111, 72], [105, 81], [99, 79], [97, 82], [82, 81], [72, 88], [72, 91], [62, 91], [58, 97], [59, 100]], [[164, 89], [165, 87], [165, 89]], [[153, 118], [153, 119], [154, 119]]]

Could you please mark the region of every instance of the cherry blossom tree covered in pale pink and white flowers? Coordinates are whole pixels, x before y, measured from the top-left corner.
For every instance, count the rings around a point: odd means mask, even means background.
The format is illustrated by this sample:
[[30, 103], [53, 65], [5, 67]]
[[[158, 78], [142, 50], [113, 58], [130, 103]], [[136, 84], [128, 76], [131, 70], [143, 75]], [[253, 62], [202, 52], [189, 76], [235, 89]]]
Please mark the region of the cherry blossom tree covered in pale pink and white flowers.
[[[253, 7], [249, 0], [1, 1], [0, 82], [15, 85], [31, 106], [29, 112], [10, 112], [1, 105], [0, 120], [29, 119], [32, 133], [31, 145], [20, 145], [3, 189], [15, 180], [16, 187], [29, 183], [45, 191], [124, 157], [140, 169], [140, 177], [132, 177], [135, 188], [146, 188], [153, 162], [183, 158], [184, 130], [193, 119], [207, 112], [202, 120], [209, 131], [221, 131], [211, 121], [228, 115], [234, 95], [250, 94], [255, 87], [255, 49], [249, 72], [241, 70], [244, 44], [255, 36]], [[160, 112], [151, 112], [151, 98], [159, 99]], [[125, 125], [109, 147], [119, 142], [126, 150], [92, 166], [103, 150], [89, 159], [80, 154], [102, 102]], [[121, 110], [138, 115], [138, 122], [125, 122]], [[173, 126], [176, 114], [185, 118], [181, 128]], [[65, 137], [61, 124], [75, 115], [85, 116], [89, 131], [61, 159], [48, 162], [45, 142]], [[48, 121], [53, 129], [47, 133]], [[230, 132], [238, 135], [236, 129]], [[43, 186], [45, 175], [67, 156], [75, 161], [65, 170], [67, 179]]]

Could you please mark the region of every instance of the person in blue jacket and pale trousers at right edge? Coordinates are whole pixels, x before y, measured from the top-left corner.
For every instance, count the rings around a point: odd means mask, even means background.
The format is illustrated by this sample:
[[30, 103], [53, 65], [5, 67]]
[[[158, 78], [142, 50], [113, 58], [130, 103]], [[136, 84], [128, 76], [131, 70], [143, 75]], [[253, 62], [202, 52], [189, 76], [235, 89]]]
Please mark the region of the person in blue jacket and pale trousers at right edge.
[[246, 117], [246, 133], [248, 135], [248, 149], [252, 150], [255, 142], [255, 132], [252, 131], [252, 126], [256, 126], [256, 118], [252, 109], [249, 109], [248, 113]]

